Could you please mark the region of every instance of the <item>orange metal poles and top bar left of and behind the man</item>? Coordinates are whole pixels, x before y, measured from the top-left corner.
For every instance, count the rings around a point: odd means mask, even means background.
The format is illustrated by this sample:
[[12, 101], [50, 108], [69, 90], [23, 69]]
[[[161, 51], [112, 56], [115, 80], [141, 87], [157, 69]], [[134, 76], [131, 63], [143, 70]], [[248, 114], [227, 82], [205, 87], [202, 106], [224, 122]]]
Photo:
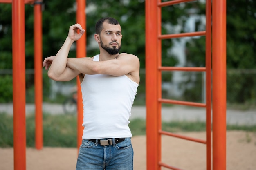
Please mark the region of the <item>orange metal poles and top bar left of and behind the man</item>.
[[[26, 169], [26, 89], [25, 89], [25, 4], [34, 5], [34, 73], [35, 73], [35, 146], [43, 148], [43, 114], [42, 114], [42, 2], [43, 0], [0, 0], [0, 3], [12, 4], [12, 46], [13, 46], [13, 148], [14, 170]], [[76, 0], [77, 22], [85, 26], [86, 0]], [[77, 56], [86, 56], [86, 35], [77, 41]], [[79, 81], [79, 80], [78, 80]], [[78, 83], [78, 89], [80, 83]], [[80, 96], [80, 97], [79, 97]], [[79, 148], [83, 127], [83, 106], [81, 90], [78, 90], [78, 132]]]

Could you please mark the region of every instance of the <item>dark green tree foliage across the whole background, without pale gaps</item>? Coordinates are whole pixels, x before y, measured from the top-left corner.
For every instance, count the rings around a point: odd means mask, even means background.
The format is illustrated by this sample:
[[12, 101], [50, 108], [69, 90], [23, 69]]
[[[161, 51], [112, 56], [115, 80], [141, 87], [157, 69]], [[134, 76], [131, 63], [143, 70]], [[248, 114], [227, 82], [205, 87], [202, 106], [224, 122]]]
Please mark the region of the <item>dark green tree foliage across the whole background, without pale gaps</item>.
[[[165, 2], [167, 0], [163, 0]], [[76, 23], [76, 1], [44, 0], [43, 9], [43, 58], [55, 55], [63, 44], [70, 25]], [[145, 0], [105, 0], [105, 1], [86, 1], [86, 35], [87, 35], [87, 56], [94, 56], [99, 53], [92, 36], [95, 32], [95, 22], [102, 17], [112, 16], [119, 20], [122, 27], [122, 48], [121, 52], [135, 54], [140, 59], [141, 68], [145, 68]], [[0, 4], [0, 69], [12, 69], [12, 9], [11, 4]], [[118, 10], [117, 10], [118, 9]], [[228, 69], [255, 69], [256, 68], [256, 1], [254, 0], [227, 0], [227, 68]], [[25, 58], [26, 68], [34, 67], [34, 9], [32, 5], [25, 5]], [[204, 16], [205, 3], [200, 1], [175, 4], [162, 8], [162, 34], [173, 34], [188, 32], [186, 21], [191, 15]], [[195, 23], [195, 31], [205, 30], [205, 25], [200, 21]], [[177, 56], [170, 52], [174, 42], [181, 41], [181, 38], [162, 40], [162, 65], [175, 66], [179, 64]], [[75, 45], [75, 43], [74, 43]], [[205, 37], [195, 37], [186, 43], [186, 65], [204, 67], [205, 66]], [[75, 48], [70, 50], [69, 57], [76, 57]], [[252, 75], [253, 76], [253, 75]], [[165, 78], [165, 77], [164, 77]], [[237, 78], [237, 77], [236, 77]], [[43, 97], [49, 101], [49, 81], [44, 76]], [[138, 103], [144, 100], [145, 77], [141, 77], [138, 87]], [[233, 76], [230, 77], [233, 79]], [[240, 79], [240, 78], [239, 78]], [[246, 76], [238, 85], [228, 85], [230, 89], [243, 89], [235, 91], [236, 99], [240, 101], [256, 101], [255, 84], [248, 84]], [[198, 80], [198, 78], [197, 78]], [[187, 84], [191, 83], [185, 82]], [[7, 83], [8, 82], [8, 83]], [[1, 76], [0, 92], [4, 92], [5, 97], [0, 96], [0, 102], [9, 102], [12, 98], [10, 79]], [[196, 86], [200, 82], [193, 82]], [[229, 83], [229, 79], [227, 79]], [[254, 81], [252, 82], [254, 83]], [[232, 84], [232, 83], [231, 83]], [[8, 89], [6, 91], [6, 89]], [[34, 77], [26, 76], [27, 101], [32, 102], [34, 98]], [[248, 91], [248, 92], [247, 92]], [[142, 92], [142, 93], [141, 93]], [[187, 89], [186, 96], [191, 96], [198, 100], [197, 90]], [[234, 94], [234, 92], [230, 92]], [[241, 97], [240, 95], [245, 94]], [[7, 96], [6, 96], [7, 95]], [[45, 96], [46, 95], [46, 96]], [[233, 101], [228, 95], [228, 101]], [[3, 101], [2, 98], [6, 99]], [[137, 101], [135, 100], [135, 103]], [[238, 101], [236, 101], [238, 102]], [[143, 103], [143, 102], [142, 102]]]

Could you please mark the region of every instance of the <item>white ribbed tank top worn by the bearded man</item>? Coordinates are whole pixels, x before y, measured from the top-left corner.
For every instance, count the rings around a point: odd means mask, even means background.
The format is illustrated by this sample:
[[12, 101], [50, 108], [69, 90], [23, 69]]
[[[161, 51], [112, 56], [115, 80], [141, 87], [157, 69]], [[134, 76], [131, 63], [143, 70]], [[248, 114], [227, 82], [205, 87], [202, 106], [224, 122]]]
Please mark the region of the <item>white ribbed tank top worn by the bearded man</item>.
[[[99, 54], [93, 60], [99, 61]], [[128, 124], [137, 87], [126, 75], [85, 75], [82, 139], [132, 137]]]

